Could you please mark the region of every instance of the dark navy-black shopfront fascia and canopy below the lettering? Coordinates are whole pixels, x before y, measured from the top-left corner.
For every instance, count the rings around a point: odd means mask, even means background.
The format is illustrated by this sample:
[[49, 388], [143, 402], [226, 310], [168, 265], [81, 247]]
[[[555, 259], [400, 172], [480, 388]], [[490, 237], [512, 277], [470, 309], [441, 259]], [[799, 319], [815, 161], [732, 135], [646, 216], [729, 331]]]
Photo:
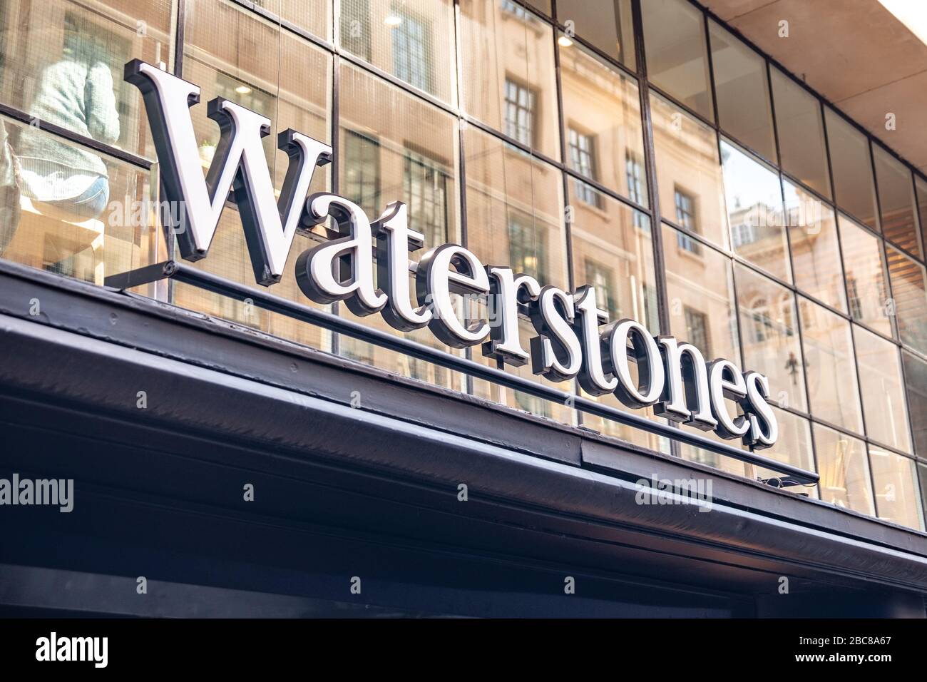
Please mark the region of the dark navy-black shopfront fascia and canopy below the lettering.
[[924, 615], [924, 534], [168, 304], [2, 263], [0, 349], [8, 613]]

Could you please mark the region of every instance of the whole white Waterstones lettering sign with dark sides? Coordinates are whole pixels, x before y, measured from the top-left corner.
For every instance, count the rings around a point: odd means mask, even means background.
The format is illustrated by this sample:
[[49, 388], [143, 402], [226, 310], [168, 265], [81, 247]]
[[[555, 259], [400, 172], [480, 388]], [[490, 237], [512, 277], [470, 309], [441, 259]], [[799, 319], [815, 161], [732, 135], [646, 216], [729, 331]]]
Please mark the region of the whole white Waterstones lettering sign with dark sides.
[[[207, 105], [221, 137], [204, 181], [190, 116], [199, 102], [197, 85], [137, 59], [126, 64], [125, 80], [145, 99], [173, 209], [166, 227], [184, 259], [206, 258], [230, 192], [254, 277], [266, 287], [280, 281], [297, 230], [331, 220], [338, 236], [303, 251], [296, 262], [299, 289], [314, 302], [343, 301], [355, 315], [379, 313], [401, 331], [427, 327], [454, 348], [482, 344], [487, 357], [514, 366], [530, 362], [548, 380], [578, 379], [593, 395], [614, 393], [624, 405], [652, 406], [661, 417], [741, 439], [752, 449], [776, 442], [765, 376], [724, 358], [707, 361], [691, 343], [654, 337], [635, 320], [609, 322], [594, 287], [565, 291], [504, 265], [484, 265], [457, 244], [426, 245], [401, 201], [371, 222], [349, 199], [310, 195], [312, 175], [332, 161], [332, 148], [292, 129], [277, 135], [289, 166], [276, 199], [261, 144], [270, 120], [222, 97]], [[425, 249], [412, 285], [409, 254]], [[462, 319], [455, 293], [486, 300], [492, 314]], [[520, 307], [527, 307], [537, 334], [528, 349], [518, 335]]]

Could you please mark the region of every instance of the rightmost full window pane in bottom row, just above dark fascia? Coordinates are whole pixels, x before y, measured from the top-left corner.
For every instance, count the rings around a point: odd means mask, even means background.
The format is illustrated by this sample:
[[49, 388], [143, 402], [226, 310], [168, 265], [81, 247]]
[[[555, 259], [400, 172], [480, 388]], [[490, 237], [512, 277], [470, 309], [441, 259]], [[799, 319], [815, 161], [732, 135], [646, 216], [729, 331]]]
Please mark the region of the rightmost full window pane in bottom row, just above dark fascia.
[[870, 467], [879, 518], [923, 530], [923, 509], [914, 460], [870, 445]]

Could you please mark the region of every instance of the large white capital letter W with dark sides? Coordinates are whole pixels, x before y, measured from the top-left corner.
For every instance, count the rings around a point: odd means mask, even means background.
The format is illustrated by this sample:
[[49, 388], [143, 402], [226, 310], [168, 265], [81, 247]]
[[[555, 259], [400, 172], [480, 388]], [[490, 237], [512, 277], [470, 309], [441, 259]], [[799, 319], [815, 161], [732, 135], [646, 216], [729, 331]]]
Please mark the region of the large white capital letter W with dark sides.
[[316, 166], [332, 160], [332, 148], [287, 129], [277, 137], [289, 166], [280, 199], [274, 203], [273, 180], [260, 140], [271, 122], [222, 97], [208, 105], [219, 124], [219, 146], [203, 178], [190, 107], [199, 102], [199, 87], [140, 59], [125, 65], [125, 80], [142, 91], [155, 150], [161, 164], [166, 199], [178, 208], [167, 225], [177, 233], [181, 255], [205, 258], [225, 199], [235, 189], [235, 203], [245, 228], [248, 252], [259, 284], [280, 281]]

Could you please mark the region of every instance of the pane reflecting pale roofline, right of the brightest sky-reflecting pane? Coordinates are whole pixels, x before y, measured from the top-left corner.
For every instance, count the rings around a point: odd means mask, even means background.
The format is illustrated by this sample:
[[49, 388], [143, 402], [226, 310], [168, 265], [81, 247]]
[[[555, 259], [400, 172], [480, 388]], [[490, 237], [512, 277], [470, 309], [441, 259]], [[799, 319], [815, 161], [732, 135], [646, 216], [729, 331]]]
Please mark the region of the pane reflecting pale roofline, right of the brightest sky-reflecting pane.
[[782, 187], [795, 286], [845, 313], [844, 270], [833, 209], [787, 180]]

